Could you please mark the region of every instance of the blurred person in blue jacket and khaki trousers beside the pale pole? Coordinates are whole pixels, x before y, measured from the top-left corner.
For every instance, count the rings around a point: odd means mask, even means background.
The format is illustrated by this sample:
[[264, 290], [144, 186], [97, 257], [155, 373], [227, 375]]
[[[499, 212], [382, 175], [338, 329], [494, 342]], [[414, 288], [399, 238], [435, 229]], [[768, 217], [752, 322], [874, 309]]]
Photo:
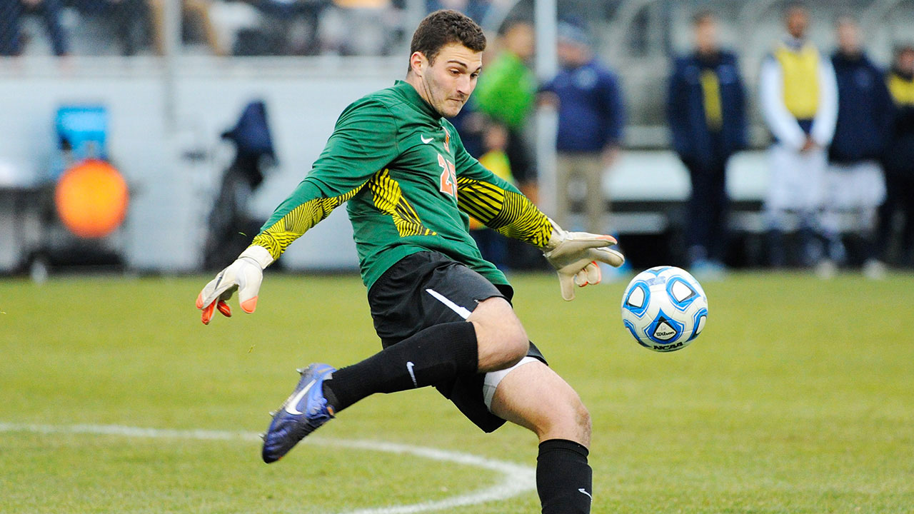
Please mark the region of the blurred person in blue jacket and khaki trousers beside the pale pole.
[[558, 104], [556, 136], [556, 219], [569, 223], [569, 185], [585, 184], [585, 230], [602, 233], [607, 198], [603, 175], [622, 143], [624, 107], [615, 73], [594, 59], [590, 36], [579, 25], [558, 24], [561, 70], [541, 89], [545, 102]]

